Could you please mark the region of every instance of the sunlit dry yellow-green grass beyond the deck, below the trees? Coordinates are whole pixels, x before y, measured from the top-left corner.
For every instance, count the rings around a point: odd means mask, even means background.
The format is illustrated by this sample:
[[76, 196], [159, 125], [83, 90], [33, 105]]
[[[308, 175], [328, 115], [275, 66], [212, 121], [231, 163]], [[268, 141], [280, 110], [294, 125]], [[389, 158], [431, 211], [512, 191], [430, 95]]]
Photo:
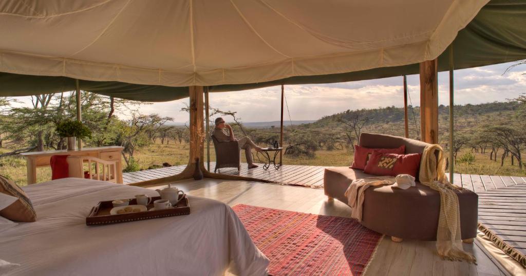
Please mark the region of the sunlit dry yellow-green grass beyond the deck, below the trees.
[[[8, 149], [0, 149], [0, 153], [8, 152]], [[458, 154], [460, 156], [470, 152], [463, 150]], [[160, 144], [159, 142], [151, 144], [143, 149], [137, 150], [135, 159], [143, 170], [148, 169], [151, 165], [162, 165], [168, 162], [170, 165], [184, 165], [188, 163], [189, 145], [185, 142], [170, 144]], [[446, 153], [447, 154], [447, 153]], [[489, 153], [473, 153], [475, 161], [473, 164], [458, 163], [455, 167], [457, 173], [467, 174], [490, 174], [490, 175], [512, 175], [512, 176], [526, 176], [526, 172], [519, 169], [517, 163], [511, 166], [511, 160], [508, 158], [504, 162], [504, 166], [500, 166], [499, 161], [490, 161]], [[279, 157], [278, 157], [279, 158]], [[316, 152], [316, 156], [309, 157], [292, 157], [284, 156], [284, 164], [291, 165], [317, 165], [317, 166], [348, 166], [352, 162], [352, 152], [346, 150], [320, 150]], [[242, 162], [246, 162], [245, 154], [241, 154]], [[215, 152], [213, 144], [210, 144], [210, 160], [215, 160]], [[206, 161], [206, 149], [205, 149]], [[123, 165], [124, 163], [123, 160]], [[0, 174], [8, 176], [13, 179], [18, 185], [26, 185], [26, 162], [20, 156], [8, 156], [0, 158]], [[51, 179], [51, 170], [49, 167], [37, 169], [38, 182], [48, 181]]]

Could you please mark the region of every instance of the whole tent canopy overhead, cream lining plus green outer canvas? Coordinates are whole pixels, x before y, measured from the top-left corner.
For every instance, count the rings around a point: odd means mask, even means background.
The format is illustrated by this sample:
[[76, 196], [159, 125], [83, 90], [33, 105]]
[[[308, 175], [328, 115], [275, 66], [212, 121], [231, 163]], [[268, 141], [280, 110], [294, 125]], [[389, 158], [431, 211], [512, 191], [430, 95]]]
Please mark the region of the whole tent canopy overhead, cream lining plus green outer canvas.
[[0, 95], [73, 90], [78, 78], [82, 90], [169, 101], [188, 96], [188, 85], [232, 91], [415, 74], [436, 57], [443, 71], [452, 42], [455, 68], [526, 58], [524, 1], [486, 3], [3, 1], [0, 37], [10, 39], [0, 40]]

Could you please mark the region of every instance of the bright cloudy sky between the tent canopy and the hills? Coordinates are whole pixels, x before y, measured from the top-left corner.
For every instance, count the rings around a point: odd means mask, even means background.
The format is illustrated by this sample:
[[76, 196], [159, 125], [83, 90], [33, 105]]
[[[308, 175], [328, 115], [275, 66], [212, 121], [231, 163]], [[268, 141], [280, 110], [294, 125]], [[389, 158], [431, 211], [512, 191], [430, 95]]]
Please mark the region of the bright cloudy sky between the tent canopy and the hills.
[[[526, 93], [526, 65], [512, 68], [513, 63], [490, 65], [454, 71], [454, 103], [478, 104], [507, 101]], [[420, 104], [418, 75], [407, 76], [408, 91], [413, 106]], [[439, 104], [449, 105], [449, 73], [438, 75]], [[243, 122], [279, 121], [280, 86], [237, 92], [210, 93], [210, 106], [224, 111], [236, 111]], [[403, 106], [402, 77], [332, 84], [286, 85], [285, 120], [317, 120], [322, 116], [345, 110], [374, 109], [386, 106]], [[29, 97], [17, 97], [29, 103]], [[188, 113], [181, 107], [188, 98], [144, 105], [143, 113], [158, 113], [174, 118], [174, 122], [188, 121]], [[288, 112], [287, 112], [288, 110]], [[120, 114], [125, 117], [125, 114]], [[228, 121], [228, 120], [227, 120]]]

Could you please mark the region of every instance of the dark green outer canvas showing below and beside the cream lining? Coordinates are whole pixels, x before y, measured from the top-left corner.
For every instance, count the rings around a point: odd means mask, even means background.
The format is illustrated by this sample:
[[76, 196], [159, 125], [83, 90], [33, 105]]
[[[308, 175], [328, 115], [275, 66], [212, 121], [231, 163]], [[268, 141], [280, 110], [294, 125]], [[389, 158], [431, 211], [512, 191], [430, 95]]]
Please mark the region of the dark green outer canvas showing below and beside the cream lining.
[[[524, 26], [526, 26], [526, 1], [490, 1], [453, 41], [454, 69], [526, 59]], [[449, 50], [438, 57], [438, 70], [449, 70]], [[410, 64], [341, 74], [295, 76], [263, 83], [216, 85], [210, 86], [209, 91], [239, 91], [281, 84], [361, 81], [418, 73], [419, 64]], [[79, 86], [83, 91], [143, 102], [166, 102], [188, 97], [187, 87], [84, 80], [79, 81]], [[0, 73], [0, 96], [29, 96], [73, 90], [75, 90], [74, 78]]]

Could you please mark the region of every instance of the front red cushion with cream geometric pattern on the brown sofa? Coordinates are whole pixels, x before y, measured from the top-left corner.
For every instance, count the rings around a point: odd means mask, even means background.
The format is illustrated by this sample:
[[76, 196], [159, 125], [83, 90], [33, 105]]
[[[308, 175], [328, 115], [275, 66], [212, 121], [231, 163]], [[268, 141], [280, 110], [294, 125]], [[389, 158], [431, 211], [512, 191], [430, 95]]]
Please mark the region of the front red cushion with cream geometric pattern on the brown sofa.
[[420, 166], [420, 158], [421, 155], [418, 153], [393, 154], [373, 151], [363, 172], [390, 176], [409, 174], [416, 178]]

